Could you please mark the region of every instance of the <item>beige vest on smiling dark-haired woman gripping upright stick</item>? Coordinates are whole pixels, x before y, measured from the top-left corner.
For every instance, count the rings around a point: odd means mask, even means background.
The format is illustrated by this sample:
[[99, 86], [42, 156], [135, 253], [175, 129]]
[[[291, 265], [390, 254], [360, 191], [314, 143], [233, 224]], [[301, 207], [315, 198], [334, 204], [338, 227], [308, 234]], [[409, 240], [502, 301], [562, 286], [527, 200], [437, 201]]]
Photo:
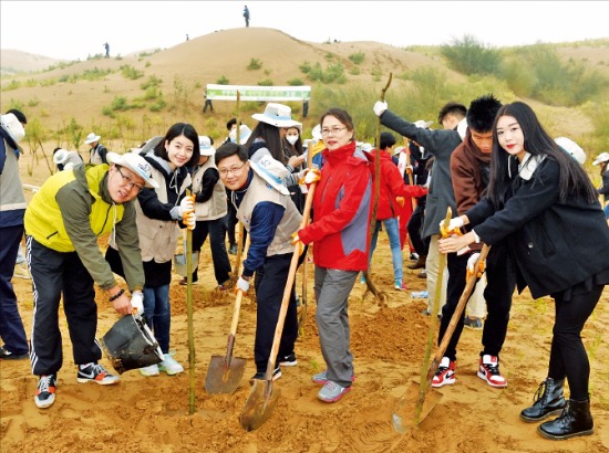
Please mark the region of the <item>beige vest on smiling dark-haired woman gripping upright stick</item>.
[[[155, 189], [158, 201], [167, 202], [167, 185], [165, 177], [156, 168], [152, 168], [152, 178], [158, 182], [158, 189]], [[190, 186], [190, 177], [186, 177], [179, 194], [186, 191]], [[140, 234], [140, 247], [142, 249], [142, 261], [154, 260], [156, 263], [166, 263], [173, 260], [177, 239], [179, 238], [179, 227], [176, 220], [156, 220], [144, 214], [140, 201], [135, 202], [137, 212], [137, 233]]]

